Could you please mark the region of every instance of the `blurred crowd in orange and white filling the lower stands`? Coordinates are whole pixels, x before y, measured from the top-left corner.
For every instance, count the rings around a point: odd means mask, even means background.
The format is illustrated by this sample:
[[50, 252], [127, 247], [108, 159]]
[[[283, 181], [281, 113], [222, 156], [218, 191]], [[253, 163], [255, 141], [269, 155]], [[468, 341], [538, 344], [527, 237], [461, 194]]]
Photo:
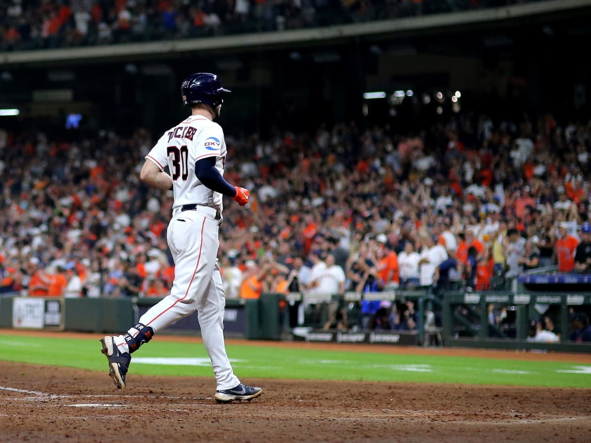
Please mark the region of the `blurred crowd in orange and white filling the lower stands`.
[[[226, 135], [220, 263], [228, 298], [261, 292], [498, 289], [526, 270], [589, 272], [591, 126], [456, 115], [420, 133], [353, 123]], [[0, 130], [3, 292], [161, 297], [171, 193], [139, 181], [155, 137], [75, 142]], [[374, 302], [380, 327], [410, 307]], [[396, 308], [396, 309], [395, 309]], [[405, 314], [408, 312], [408, 314]], [[294, 315], [296, 315], [294, 313]], [[410, 320], [410, 321], [409, 321]]]

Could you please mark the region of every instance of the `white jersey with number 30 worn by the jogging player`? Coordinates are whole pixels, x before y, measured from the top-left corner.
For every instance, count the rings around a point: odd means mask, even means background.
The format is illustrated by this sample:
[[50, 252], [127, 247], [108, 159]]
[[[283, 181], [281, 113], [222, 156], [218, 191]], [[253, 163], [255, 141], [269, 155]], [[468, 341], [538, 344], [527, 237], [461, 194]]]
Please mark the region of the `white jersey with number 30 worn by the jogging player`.
[[222, 194], [210, 190], [195, 175], [195, 162], [207, 157], [216, 157], [216, 169], [223, 176], [226, 141], [222, 127], [202, 115], [191, 115], [170, 128], [145, 156], [160, 170], [168, 165], [173, 178], [173, 210], [184, 204], [202, 204], [222, 212]]

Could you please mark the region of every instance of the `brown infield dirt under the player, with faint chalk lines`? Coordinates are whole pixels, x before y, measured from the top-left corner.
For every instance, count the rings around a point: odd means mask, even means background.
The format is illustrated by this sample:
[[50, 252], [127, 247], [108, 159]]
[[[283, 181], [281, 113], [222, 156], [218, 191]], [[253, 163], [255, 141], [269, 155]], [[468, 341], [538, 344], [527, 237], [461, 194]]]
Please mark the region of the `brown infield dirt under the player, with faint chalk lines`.
[[[399, 351], [368, 348], [378, 349]], [[486, 356], [499, 354], [591, 359]], [[0, 442], [584, 442], [591, 435], [589, 389], [249, 379], [264, 388], [259, 399], [219, 405], [213, 377], [132, 377], [122, 392], [106, 370], [0, 361]]]

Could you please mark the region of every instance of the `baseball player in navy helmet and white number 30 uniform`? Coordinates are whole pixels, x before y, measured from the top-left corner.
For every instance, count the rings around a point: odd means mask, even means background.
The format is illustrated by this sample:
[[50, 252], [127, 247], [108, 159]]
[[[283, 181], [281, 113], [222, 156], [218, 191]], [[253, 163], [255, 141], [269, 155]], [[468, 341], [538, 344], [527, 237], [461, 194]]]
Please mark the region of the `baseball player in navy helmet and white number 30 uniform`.
[[[170, 295], [142, 315], [125, 335], [107, 335], [100, 340], [102, 353], [109, 360], [109, 376], [118, 389], [125, 389], [131, 353], [158, 331], [197, 311], [203, 344], [216, 376], [216, 401], [250, 401], [261, 395], [260, 387], [246, 386], [235, 376], [223, 337], [225, 296], [217, 265], [222, 194], [241, 206], [249, 197], [248, 190], [223, 178], [226, 143], [221, 126], [213, 119], [219, 117], [222, 95], [228, 92], [215, 74], [187, 77], [181, 93], [184, 105], [191, 106], [191, 116], [166, 131], [145, 156], [141, 180], [174, 193], [173, 217], [167, 229], [174, 281]], [[164, 172], [165, 165], [170, 175]]]

